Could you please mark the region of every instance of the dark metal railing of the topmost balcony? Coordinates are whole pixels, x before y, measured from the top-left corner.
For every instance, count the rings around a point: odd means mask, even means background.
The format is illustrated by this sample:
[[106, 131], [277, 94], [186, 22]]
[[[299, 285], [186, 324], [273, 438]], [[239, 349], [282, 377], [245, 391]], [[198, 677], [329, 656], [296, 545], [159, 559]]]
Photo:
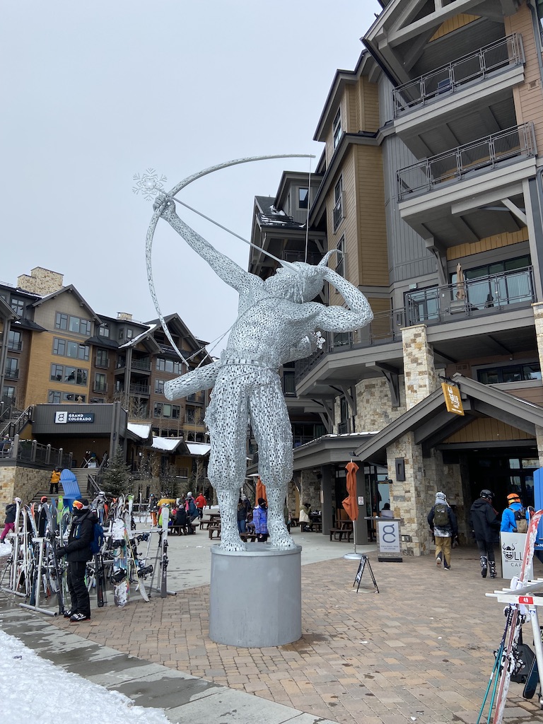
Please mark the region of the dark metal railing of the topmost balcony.
[[507, 38], [490, 43], [475, 53], [465, 55], [447, 65], [421, 75], [415, 80], [394, 89], [394, 117], [433, 101], [442, 93], [462, 88], [466, 83], [484, 80], [485, 77], [505, 67], [522, 65], [524, 51], [522, 37], [513, 33]]

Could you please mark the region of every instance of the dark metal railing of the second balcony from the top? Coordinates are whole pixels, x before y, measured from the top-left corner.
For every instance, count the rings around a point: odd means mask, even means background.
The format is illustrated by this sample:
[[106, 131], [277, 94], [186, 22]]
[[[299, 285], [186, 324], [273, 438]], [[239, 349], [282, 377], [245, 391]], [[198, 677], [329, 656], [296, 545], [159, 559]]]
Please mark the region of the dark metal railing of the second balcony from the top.
[[502, 161], [529, 158], [536, 154], [532, 122], [492, 133], [479, 140], [423, 159], [397, 172], [398, 199], [413, 193], [427, 193], [445, 182], [458, 182], [481, 169], [492, 170]]

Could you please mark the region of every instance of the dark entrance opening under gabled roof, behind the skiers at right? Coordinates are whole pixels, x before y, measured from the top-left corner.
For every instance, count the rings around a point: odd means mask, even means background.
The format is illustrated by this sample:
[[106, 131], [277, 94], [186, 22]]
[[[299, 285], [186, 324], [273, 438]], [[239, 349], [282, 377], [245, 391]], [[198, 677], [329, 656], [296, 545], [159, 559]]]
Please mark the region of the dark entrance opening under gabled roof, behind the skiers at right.
[[523, 505], [534, 505], [534, 471], [539, 468], [535, 447], [511, 447], [508, 450], [478, 450], [468, 454], [472, 500], [482, 489], [494, 493], [494, 508], [507, 508], [509, 493], [518, 493]]

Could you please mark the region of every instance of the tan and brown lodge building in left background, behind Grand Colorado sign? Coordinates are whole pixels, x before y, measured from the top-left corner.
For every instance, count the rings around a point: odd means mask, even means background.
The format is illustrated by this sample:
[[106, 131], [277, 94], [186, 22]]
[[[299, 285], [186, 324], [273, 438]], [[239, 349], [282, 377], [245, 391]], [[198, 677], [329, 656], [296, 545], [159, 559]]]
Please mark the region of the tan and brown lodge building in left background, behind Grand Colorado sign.
[[[185, 374], [187, 366], [167, 340], [159, 320], [135, 321], [128, 313], [98, 315], [75, 286], [63, 286], [62, 282], [62, 274], [36, 267], [30, 276], [19, 277], [17, 286], [0, 284], [2, 412], [13, 416], [14, 409], [22, 412], [39, 405], [59, 409], [79, 405], [78, 409], [90, 411], [95, 405], [120, 403], [127, 437], [158, 451], [164, 458], [163, 470], [174, 454], [177, 458], [184, 455], [175, 463], [180, 468], [177, 472], [187, 476], [190, 443], [208, 442], [203, 413], [209, 393], [200, 392], [173, 403], [167, 400], [164, 383]], [[166, 322], [191, 369], [209, 363], [206, 343], [193, 337], [180, 316], [167, 316]], [[38, 424], [24, 434], [70, 449], [81, 463], [88, 450], [98, 445], [102, 446], [96, 450], [99, 456], [104, 447], [111, 454], [106, 429], [106, 418], [110, 418], [105, 412], [96, 414], [99, 434], [91, 425], [79, 425], [77, 432], [65, 425], [48, 425], [41, 415]], [[118, 426], [119, 421], [115, 424]], [[105, 439], [92, 439], [97, 436]], [[174, 440], [169, 445], [155, 444], [157, 437]], [[197, 456], [201, 455], [202, 448], [193, 448]], [[135, 449], [132, 445], [132, 458], [138, 454]], [[129, 457], [129, 462], [135, 466], [138, 460]]]

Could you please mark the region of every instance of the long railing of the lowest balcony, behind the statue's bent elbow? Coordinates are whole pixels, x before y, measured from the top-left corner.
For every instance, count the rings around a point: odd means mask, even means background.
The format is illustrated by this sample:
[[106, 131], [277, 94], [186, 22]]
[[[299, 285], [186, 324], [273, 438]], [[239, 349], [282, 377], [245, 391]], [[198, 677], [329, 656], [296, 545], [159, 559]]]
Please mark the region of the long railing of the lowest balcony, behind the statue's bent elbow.
[[376, 313], [371, 324], [355, 332], [327, 333], [321, 350], [295, 363], [295, 381], [300, 382], [326, 355], [401, 341], [402, 327], [489, 316], [512, 305], [527, 307], [534, 301], [536, 294], [531, 266], [466, 279], [460, 284], [409, 292], [405, 295], [405, 308]]

